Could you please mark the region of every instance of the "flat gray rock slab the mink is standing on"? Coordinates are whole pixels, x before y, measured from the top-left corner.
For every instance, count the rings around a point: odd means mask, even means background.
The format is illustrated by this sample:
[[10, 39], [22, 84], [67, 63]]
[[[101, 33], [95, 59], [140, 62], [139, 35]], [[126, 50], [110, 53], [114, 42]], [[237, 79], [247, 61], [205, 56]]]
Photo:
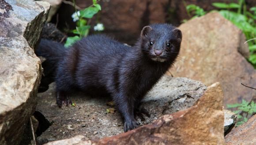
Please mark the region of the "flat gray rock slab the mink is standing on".
[[[206, 88], [199, 81], [164, 76], [143, 100], [143, 107], [150, 112], [151, 117], [145, 117], [144, 121], [137, 120], [140, 125], [144, 125], [166, 113], [186, 109], [202, 96]], [[114, 108], [106, 105], [111, 98], [73, 94], [71, 100], [76, 106], [63, 106], [60, 109], [56, 105], [55, 97], [55, 83], [49, 85], [48, 91], [38, 93], [37, 111], [53, 123], [38, 137], [39, 144], [76, 135], [94, 140], [124, 132], [120, 113], [106, 113], [106, 109]]]

